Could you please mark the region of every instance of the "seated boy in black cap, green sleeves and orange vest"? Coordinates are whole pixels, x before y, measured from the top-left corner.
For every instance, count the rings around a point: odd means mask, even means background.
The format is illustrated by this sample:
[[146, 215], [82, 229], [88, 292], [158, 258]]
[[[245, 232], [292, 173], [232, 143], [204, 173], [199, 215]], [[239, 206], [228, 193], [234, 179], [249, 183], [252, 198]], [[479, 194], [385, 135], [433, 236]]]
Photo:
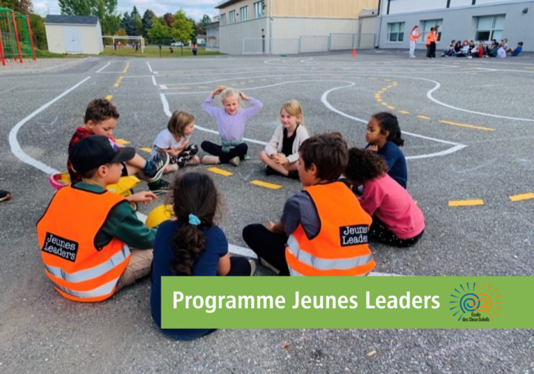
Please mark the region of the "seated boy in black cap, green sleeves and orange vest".
[[[135, 154], [135, 148], [118, 148], [107, 136], [80, 140], [70, 160], [81, 182], [58, 190], [37, 223], [44, 271], [67, 299], [106, 300], [150, 273], [156, 229], [138, 220], [124, 197], [106, 190]], [[130, 197], [155, 199], [148, 191]]]

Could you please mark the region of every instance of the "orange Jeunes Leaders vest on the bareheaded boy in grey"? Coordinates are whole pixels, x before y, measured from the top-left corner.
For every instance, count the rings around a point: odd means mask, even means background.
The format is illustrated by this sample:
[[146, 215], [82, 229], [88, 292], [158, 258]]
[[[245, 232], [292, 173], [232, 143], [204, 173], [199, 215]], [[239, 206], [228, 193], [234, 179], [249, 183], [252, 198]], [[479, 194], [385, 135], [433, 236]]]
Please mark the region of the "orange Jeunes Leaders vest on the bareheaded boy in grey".
[[291, 275], [366, 275], [376, 263], [369, 250], [372, 219], [341, 181], [306, 188], [321, 222], [318, 234], [307, 238], [302, 225], [287, 241]]

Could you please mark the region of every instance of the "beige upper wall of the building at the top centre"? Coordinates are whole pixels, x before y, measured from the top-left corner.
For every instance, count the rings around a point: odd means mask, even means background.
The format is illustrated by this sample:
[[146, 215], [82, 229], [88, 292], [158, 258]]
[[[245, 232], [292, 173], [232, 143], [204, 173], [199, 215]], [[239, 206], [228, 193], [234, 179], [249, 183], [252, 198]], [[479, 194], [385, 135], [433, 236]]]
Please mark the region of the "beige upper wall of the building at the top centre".
[[273, 17], [357, 18], [376, 8], [378, 0], [273, 0]]

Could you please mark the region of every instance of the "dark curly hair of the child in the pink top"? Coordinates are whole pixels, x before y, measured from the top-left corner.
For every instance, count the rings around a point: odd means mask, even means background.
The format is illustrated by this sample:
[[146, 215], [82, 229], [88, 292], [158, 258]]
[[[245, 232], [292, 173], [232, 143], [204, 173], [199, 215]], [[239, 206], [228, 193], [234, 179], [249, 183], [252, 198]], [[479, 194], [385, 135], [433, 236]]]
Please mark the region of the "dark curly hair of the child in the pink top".
[[380, 154], [360, 148], [348, 150], [348, 165], [344, 172], [351, 184], [364, 184], [387, 172], [387, 164]]

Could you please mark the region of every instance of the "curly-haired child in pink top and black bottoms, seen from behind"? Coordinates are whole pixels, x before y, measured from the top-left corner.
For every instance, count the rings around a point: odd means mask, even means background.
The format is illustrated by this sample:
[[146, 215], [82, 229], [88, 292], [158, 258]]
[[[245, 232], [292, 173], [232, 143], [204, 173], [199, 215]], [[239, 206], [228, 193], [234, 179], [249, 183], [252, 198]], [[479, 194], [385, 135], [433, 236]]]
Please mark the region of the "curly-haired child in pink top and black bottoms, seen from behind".
[[387, 165], [380, 155], [349, 149], [344, 174], [353, 186], [364, 186], [358, 200], [373, 217], [371, 240], [395, 247], [410, 247], [419, 241], [425, 229], [423, 213], [407, 190], [387, 174]]

